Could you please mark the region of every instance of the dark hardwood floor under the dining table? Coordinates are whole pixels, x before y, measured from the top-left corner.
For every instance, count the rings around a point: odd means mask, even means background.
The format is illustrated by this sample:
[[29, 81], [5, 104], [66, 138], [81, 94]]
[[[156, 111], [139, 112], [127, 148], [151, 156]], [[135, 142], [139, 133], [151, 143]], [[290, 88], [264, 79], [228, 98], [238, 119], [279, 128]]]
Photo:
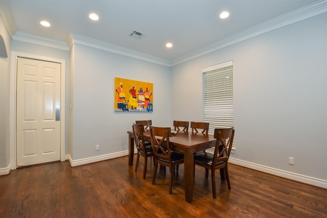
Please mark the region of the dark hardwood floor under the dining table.
[[[136, 158], [136, 156], [135, 156]], [[135, 161], [134, 161], [135, 162]], [[193, 203], [185, 202], [183, 165], [173, 178], [158, 171], [152, 185], [152, 160], [146, 179], [127, 157], [71, 167], [56, 162], [19, 168], [0, 177], [0, 217], [327, 217], [327, 189], [229, 164], [231, 190], [216, 173], [196, 166]]]

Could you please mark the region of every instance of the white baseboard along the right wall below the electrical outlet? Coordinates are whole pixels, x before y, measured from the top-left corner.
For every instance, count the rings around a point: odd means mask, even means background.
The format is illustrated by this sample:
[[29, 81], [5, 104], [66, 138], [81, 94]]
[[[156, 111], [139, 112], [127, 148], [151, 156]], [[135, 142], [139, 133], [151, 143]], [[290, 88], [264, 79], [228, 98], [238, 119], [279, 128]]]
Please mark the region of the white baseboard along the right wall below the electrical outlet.
[[272, 175], [275, 175], [275, 176], [283, 177], [283, 178], [286, 178], [286, 179], [291, 179], [291, 180], [295, 180], [295, 181], [298, 181], [298, 182], [303, 182], [303, 183], [307, 183], [307, 184], [310, 184], [310, 185], [315, 185], [315, 186], [318, 186], [318, 187], [327, 188], [327, 181], [325, 181], [325, 180], [312, 178], [312, 177], [308, 177], [308, 176], [303, 176], [303, 175], [299, 175], [299, 174], [294, 174], [294, 173], [291, 173], [291, 172], [282, 171], [281, 169], [275, 169], [275, 168], [271, 168], [271, 167], [268, 167], [268, 166], [263, 166], [263, 165], [243, 161], [243, 160], [238, 160], [238, 159], [231, 158], [231, 157], [228, 159], [228, 162], [236, 164], [236, 165], [244, 166], [244, 167], [247, 167], [247, 168], [255, 169], [257, 171], [272, 174]]

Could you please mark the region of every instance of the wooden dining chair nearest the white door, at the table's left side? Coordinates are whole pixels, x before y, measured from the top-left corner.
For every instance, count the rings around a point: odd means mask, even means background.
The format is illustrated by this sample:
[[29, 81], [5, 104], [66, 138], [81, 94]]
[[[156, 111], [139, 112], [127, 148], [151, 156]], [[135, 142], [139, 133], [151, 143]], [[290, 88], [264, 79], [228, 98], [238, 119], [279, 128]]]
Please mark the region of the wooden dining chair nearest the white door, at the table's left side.
[[133, 124], [132, 126], [133, 134], [134, 134], [134, 141], [137, 148], [137, 159], [135, 165], [135, 172], [137, 172], [137, 166], [139, 161], [139, 156], [144, 157], [144, 167], [143, 167], [143, 179], [145, 179], [146, 172], [147, 172], [147, 163], [148, 157], [153, 157], [153, 164], [154, 164], [154, 154], [152, 150], [151, 143], [146, 142], [144, 140], [144, 126], [140, 124]]

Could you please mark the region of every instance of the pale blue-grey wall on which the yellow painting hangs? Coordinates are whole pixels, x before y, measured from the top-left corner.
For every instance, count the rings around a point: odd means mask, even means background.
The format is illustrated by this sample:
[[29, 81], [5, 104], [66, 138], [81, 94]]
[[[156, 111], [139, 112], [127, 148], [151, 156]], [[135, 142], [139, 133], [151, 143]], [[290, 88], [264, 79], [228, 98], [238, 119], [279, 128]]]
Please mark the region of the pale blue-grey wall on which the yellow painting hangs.
[[[153, 126], [172, 126], [169, 67], [79, 44], [74, 44], [72, 53], [73, 161], [128, 151], [127, 131], [135, 120], [152, 119]], [[114, 112], [115, 77], [153, 83], [153, 112]]]

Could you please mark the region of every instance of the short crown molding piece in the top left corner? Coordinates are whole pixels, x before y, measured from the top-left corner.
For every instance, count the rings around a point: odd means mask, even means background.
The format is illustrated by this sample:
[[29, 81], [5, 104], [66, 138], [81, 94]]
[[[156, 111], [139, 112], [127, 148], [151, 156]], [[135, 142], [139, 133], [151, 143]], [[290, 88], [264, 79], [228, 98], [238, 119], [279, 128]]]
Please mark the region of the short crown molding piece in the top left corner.
[[4, 20], [5, 26], [9, 32], [10, 37], [12, 38], [17, 31], [17, 27], [14, 20], [14, 16], [11, 13], [8, 0], [0, 1], [0, 16]]

